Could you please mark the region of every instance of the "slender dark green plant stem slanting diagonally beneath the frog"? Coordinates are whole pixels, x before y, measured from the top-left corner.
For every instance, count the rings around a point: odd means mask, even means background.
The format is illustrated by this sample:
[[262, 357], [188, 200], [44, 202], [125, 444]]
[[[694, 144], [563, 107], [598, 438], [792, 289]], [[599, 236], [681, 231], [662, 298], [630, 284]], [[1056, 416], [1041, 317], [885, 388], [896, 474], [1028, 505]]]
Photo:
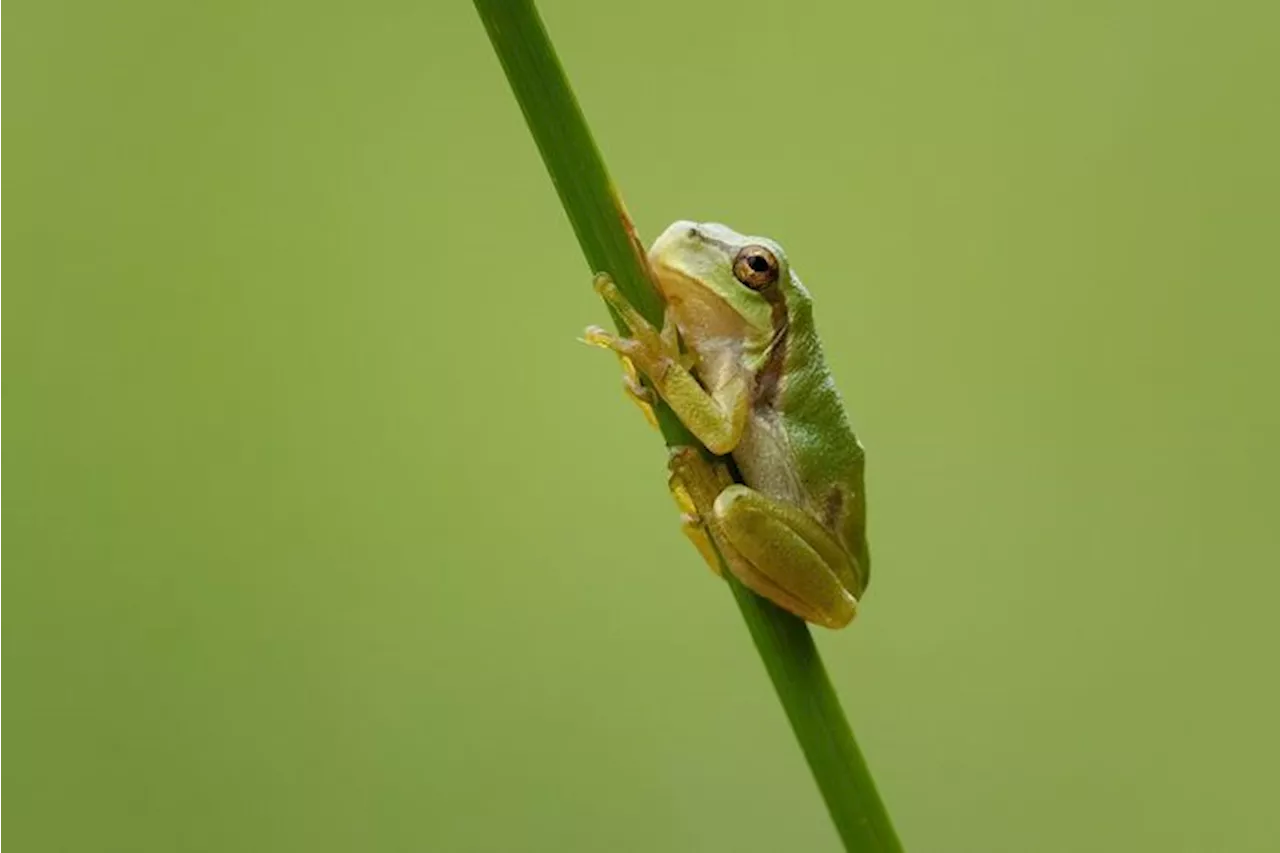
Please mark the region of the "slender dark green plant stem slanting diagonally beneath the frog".
[[[588, 264], [593, 272], [608, 270], [640, 313], [660, 324], [662, 302], [649, 280], [644, 248], [534, 4], [475, 0], [475, 6]], [[659, 405], [657, 414], [669, 447], [698, 446], [669, 409]], [[808, 625], [742, 587], [731, 573], [723, 574], [845, 849], [901, 850]]]

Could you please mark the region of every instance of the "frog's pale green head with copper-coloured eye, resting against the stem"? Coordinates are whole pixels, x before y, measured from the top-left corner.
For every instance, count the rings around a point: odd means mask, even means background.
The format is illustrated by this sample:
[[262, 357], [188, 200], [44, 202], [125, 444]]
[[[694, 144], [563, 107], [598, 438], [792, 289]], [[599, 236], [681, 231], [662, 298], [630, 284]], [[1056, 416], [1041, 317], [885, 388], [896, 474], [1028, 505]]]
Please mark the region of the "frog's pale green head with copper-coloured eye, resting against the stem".
[[681, 332], [763, 348], [786, 316], [791, 269], [782, 247], [717, 223], [677, 222], [649, 250], [649, 264]]

